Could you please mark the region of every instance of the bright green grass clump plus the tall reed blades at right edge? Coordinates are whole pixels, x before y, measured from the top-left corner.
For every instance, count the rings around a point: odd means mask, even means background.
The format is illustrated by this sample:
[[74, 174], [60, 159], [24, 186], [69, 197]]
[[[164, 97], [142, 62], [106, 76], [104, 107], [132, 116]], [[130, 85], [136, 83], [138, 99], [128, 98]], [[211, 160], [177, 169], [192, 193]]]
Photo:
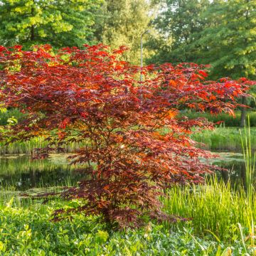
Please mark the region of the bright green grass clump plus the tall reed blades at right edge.
[[[198, 234], [213, 233], [224, 240], [238, 238], [242, 227], [248, 230], [248, 238], [254, 246], [254, 220], [256, 205], [254, 203], [256, 154], [253, 152], [250, 119], [248, 127], [240, 132], [241, 147], [245, 159], [245, 184], [236, 190], [216, 176], [206, 184], [191, 186], [174, 186], [169, 188], [161, 198], [164, 209], [170, 214], [192, 218], [193, 229]], [[182, 225], [182, 223], [178, 223]], [[243, 239], [243, 238], [242, 238]]]

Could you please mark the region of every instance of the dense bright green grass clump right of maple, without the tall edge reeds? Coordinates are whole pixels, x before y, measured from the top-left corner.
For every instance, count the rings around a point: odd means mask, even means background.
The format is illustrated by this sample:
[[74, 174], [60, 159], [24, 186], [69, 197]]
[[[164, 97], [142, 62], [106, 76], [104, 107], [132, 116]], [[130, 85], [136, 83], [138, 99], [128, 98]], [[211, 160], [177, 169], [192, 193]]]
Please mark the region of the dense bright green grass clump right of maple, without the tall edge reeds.
[[[252, 191], [253, 195], [255, 191]], [[250, 227], [256, 217], [256, 207], [240, 186], [233, 191], [230, 183], [212, 178], [207, 185], [174, 186], [161, 198], [167, 213], [192, 218], [198, 235], [214, 233], [228, 240], [239, 235], [238, 223]], [[183, 223], [177, 224], [179, 228]]]

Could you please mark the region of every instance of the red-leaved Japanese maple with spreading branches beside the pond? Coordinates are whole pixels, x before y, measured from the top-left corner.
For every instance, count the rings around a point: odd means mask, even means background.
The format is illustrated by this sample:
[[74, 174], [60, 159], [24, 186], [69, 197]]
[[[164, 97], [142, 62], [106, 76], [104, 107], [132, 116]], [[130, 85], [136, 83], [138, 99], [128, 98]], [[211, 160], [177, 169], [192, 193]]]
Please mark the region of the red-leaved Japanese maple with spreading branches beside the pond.
[[[0, 46], [0, 100], [28, 115], [1, 134], [9, 142], [38, 135], [45, 157], [63, 144], [82, 142], [72, 157], [87, 164], [88, 179], [63, 192], [82, 205], [69, 212], [102, 215], [119, 225], [139, 225], [143, 215], [164, 218], [158, 197], [171, 183], [203, 181], [212, 171], [199, 158], [210, 156], [189, 139], [193, 127], [211, 128], [206, 119], [177, 118], [193, 108], [233, 114], [235, 97], [245, 95], [248, 80], [206, 81], [202, 65], [183, 63], [140, 69], [119, 60], [124, 47], [50, 46], [23, 51]], [[63, 210], [55, 212], [61, 218]]]

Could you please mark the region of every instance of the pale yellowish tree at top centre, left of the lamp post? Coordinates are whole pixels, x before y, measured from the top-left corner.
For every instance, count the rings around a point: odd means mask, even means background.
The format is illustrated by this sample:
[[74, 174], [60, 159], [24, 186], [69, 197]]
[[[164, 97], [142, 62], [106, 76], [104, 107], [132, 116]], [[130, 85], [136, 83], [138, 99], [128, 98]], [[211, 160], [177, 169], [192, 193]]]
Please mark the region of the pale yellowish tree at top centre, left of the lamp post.
[[[105, 0], [97, 21], [97, 40], [118, 48], [125, 45], [129, 51], [124, 58], [134, 64], [140, 60], [140, 37], [142, 33], [151, 30], [157, 1], [146, 0]], [[149, 35], [144, 36], [144, 43]], [[149, 55], [144, 47], [144, 56]]]

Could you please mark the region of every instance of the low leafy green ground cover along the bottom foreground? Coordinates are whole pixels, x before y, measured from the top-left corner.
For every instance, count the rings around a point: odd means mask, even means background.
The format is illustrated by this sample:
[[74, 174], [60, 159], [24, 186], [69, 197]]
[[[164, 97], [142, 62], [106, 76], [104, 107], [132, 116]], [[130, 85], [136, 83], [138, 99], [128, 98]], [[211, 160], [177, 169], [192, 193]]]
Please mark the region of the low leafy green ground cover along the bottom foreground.
[[192, 222], [183, 223], [182, 228], [148, 223], [137, 230], [113, 231], [97, 218], [82, 215], [75, 215], [72, 221], [48, 221], [53, 210], [74, 203], [34, 201], [22, 206], [10, 200], [1, 204], [0, 255], [253, 255], [245, 226], [242, 238], [234, 225], [229, 227], [233, 235], [223, 239], [210, 232], [195, 232]]

